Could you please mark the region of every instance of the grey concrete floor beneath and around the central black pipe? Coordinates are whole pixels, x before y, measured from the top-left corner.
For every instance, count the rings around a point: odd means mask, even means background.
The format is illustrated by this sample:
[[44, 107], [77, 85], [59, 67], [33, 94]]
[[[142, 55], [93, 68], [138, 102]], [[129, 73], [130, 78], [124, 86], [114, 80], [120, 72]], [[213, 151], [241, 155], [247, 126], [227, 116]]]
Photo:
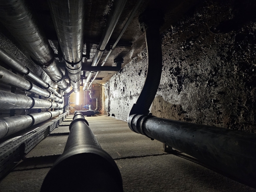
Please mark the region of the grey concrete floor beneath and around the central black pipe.
[[[114, 158], [124, 191], [256, 191], [199, 164], [162, 151], [162, 143], [132, 132], [108, 116], [86, 117], [102, 148]], [[53, 162], [64, 150], [69, 116], [6, 177], [0, 191], [40, 191]]]

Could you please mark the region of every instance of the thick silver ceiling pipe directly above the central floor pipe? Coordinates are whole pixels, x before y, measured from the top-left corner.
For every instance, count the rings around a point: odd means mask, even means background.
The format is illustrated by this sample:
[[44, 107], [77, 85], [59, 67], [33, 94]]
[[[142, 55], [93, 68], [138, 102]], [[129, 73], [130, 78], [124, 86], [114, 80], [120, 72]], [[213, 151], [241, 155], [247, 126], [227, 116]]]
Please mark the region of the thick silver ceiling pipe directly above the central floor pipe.
[[84, 0], [48, 0], [74, 92], [80, 90], [84, 45]]

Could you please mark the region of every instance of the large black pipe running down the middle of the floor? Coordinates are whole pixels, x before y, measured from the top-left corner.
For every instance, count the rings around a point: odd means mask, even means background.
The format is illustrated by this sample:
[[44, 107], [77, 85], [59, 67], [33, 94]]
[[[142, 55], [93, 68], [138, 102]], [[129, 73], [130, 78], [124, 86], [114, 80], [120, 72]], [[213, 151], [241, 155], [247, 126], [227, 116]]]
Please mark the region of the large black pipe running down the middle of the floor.
[[111, 156], [102, 150], [88, 122], [74, 114], [63, 154], [44, 178], [41, 192], [122, 192], [122, 177]]

